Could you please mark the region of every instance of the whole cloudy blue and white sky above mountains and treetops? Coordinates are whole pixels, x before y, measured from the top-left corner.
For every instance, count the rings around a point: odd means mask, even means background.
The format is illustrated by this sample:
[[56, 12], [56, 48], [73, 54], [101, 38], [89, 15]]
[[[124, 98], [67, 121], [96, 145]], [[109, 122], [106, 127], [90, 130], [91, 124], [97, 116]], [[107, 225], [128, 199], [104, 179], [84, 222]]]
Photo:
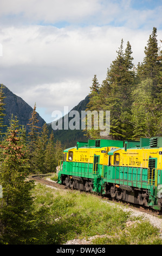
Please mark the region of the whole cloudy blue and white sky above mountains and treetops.
[[[47, 122], [67, 114], [99, 84], [124, 40], [144, 58], [162, 0], [0, 0], [0, 83]], [[66, 113], [65, 113], [66, 109]]]

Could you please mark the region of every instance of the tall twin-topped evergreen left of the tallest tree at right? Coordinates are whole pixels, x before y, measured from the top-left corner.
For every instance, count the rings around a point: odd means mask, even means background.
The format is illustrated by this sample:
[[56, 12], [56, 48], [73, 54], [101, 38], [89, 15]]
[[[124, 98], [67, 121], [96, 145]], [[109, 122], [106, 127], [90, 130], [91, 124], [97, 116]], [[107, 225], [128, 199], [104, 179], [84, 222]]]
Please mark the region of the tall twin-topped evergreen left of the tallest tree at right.
[[[131, 115], [131, 92], [134, 89], [135, 72], [133, 70], [133, 57], [131, 56], [131, 45], [127, 42], [124, 53], [123, 40], [116, 59], [112, 62], [107, 72], [107, 78], [103, 81], [106, 89], [106, 108], [111, 111], [111, 133], [112, 138], [124, 139], [132, 136]], [[104, 94], [104, 90], [102, 95]], [[102, 97], [102, 96], [101, 96]]]

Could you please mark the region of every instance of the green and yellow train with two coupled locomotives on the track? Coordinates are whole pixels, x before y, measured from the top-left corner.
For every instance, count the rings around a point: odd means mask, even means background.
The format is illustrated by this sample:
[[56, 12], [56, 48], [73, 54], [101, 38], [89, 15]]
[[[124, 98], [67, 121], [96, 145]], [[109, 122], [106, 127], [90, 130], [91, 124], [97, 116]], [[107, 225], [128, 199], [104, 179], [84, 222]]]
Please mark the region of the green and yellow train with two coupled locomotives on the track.
[[63, 151], [58, 184], [162, 210], [162, 137], [88, 139]]

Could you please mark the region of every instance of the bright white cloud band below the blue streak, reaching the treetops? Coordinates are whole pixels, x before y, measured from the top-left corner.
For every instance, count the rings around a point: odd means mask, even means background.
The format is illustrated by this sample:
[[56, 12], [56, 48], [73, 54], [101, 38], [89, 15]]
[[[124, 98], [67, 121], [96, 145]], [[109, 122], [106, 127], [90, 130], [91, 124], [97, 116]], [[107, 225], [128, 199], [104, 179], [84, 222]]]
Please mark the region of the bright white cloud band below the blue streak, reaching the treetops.
[[[124, 27], [55, 28], [44, 26], [9, 27], [0, 32], [4, 58], [1, 66], [32, 65], [62, 68], [66, 73], [86, 69], [89, 65], [99, 66], [108, 56], [108, 64], [115, 57], [121, 38], [133, 43], [138, 34], [141, 44], [146, 45], [148, 31], [137, 31]], [[145, 42], [143, 41], [145, 40]], [[142, 51], [141, 49], [139, 51]], [[73, 69], [70, 71], [70, 69]], [[60, 75], [60, 74], [59, 74]], [[63, 75], [63, 74], [62, 74]], [[67, 74], [66, 74], [67, 75]]]

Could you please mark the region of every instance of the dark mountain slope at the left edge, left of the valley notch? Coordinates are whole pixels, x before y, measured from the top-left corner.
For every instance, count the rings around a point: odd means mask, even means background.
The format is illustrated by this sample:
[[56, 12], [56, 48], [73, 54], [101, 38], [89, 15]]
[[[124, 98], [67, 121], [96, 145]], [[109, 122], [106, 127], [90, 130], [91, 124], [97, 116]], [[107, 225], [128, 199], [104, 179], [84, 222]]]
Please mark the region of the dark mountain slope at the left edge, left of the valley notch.
[[[4, 99], [5, 110], [3, 112], [5, 114], [4, 124], [9, 126], [9, 120], [11, 119], [11, 115], [13, 114], [14, 117], [16, 116], [17, 120], [19, 120], [19, 124], [24, 125], [28, 132], [29, 126], [27, 124], [29, 123], [29, 119], [31, 118], [31, 113], [33, 112], [33, 108], [30, 107], [28, 103], [25, 102], [21, 97], [12, 93], [6, 86], [3, 85], [3, 87], [4, 87], [3, 93], [5, 96], [5, 99]], [[37, 124], [37, 126], [39, 127], [42, 127], [43, 124], [46, 123], [38, 113], [37, 113], [37, 119], [39, 120]], [[7, 130], [7, 127], [5, 127], [4, 132], [6, 130]]]

